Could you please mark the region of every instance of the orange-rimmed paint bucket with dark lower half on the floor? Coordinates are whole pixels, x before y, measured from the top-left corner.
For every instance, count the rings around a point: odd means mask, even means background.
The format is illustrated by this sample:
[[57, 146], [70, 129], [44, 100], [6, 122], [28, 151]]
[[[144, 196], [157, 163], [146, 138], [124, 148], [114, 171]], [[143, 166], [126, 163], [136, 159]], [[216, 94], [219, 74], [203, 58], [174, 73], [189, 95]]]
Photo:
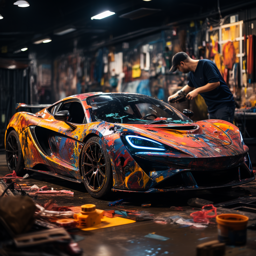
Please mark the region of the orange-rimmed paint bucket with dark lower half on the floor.
[[218, 240], [232, 245], [246, 244], [246, 228], [248, 220], [248, 217], [240, 214], [217, 215]]

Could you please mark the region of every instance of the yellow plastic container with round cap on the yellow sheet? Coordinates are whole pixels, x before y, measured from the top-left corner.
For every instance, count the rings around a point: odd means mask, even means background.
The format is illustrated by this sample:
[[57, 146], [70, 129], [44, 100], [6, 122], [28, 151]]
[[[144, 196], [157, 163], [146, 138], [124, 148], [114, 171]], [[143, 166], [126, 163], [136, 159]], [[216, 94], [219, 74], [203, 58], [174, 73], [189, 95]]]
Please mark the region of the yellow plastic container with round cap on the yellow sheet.
[[95, 205], [82, 205], [80, 213], [74, 214], [74, 219], [79, 226], [89, 228], [101, 223], [103, 212], [103, 210], [96, 209]]

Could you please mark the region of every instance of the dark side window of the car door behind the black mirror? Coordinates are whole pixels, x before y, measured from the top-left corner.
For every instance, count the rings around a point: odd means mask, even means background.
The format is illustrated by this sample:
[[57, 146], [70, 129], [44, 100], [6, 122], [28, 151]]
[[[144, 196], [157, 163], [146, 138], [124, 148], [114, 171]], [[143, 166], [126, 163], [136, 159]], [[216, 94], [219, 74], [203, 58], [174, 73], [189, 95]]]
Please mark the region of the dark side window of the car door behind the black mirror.
[[84, 111], [82, 104], [78, 101], [64, 102], [59, 111], [68, 110], [69, 119], [68, 122], [75, 124], [82, 124], [84, 120]]

